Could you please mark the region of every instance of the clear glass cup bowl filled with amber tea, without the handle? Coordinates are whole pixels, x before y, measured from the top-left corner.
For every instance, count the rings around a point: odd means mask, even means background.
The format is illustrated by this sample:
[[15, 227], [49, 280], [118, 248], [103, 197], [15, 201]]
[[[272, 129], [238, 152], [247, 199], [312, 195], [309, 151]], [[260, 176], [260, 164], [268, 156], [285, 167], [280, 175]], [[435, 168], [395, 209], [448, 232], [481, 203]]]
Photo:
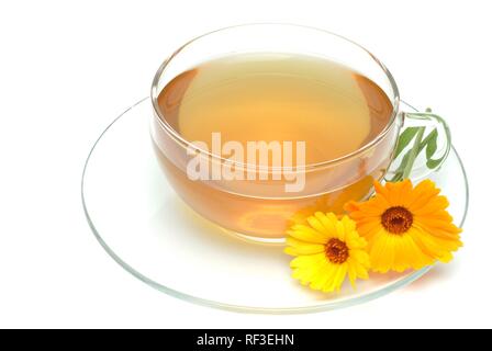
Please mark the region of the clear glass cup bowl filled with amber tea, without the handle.
[[314, 211], [362, 200], [391, 163], [399, 91], [369, 52], [297, 25], [200, 36], [157, 71], [152, 136], [195, 212], [261, 240]]

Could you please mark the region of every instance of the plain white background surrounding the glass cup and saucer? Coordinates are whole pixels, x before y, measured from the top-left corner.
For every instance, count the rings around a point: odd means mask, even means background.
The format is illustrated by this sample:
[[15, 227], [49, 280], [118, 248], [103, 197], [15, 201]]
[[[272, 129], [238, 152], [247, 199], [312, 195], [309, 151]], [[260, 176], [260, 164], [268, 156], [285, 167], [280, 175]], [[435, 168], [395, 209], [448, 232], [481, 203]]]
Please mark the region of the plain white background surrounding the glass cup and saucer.
[[[490, 1], [0, 2], [0, 327], [492, 327]], [[166, 296], [103, 251], [80, 176], [99, 133], [149, 92], [159, 64], [204, 32], [291, 22], [359, 42], [401, 94], [454, 132], [471, 185], [449, 265], [329, 313], [226, 313]]]

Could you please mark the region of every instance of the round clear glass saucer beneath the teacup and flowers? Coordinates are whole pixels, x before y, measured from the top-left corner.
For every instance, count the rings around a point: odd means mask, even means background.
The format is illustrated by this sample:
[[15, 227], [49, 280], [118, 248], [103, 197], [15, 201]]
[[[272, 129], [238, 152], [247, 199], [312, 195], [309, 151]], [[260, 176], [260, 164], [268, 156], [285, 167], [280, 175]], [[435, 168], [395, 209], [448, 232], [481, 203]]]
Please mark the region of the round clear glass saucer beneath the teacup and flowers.
[[[410, 107], [410, 106], [409, 106]], [[410, 107], [411, 109], [411, 107]], [[148, 98], [111, 123], [92, 147], [82, 174], [89, 225], [105, 251], [126, 271], [175, 297], [249, 313], [308, 313], [383, 296], [429, 268], [378, 275], [322, 294], [290, 278], [290, 257], [279, 245], [246, 242], [190, 210], [164, 177], [152, 149]], [[451, 203], [460, 226], [468, 183], [455, 149], [429, 178]]]

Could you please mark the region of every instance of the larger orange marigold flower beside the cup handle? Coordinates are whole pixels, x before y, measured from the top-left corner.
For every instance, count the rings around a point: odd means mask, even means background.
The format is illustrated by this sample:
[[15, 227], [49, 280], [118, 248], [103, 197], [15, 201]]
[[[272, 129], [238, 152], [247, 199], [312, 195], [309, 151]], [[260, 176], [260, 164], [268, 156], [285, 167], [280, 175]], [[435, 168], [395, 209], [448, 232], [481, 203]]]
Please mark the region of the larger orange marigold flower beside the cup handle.
[[449, 262], [451, 251], [462, 246], [461, 229], [452, 224], [433, 181], [413, 188], [410, 180], [381, 185], [374, 182], [376, 195], [345, 206], [367, 239], [371, 269], [385, 273], [421, 269], [436, 262]]

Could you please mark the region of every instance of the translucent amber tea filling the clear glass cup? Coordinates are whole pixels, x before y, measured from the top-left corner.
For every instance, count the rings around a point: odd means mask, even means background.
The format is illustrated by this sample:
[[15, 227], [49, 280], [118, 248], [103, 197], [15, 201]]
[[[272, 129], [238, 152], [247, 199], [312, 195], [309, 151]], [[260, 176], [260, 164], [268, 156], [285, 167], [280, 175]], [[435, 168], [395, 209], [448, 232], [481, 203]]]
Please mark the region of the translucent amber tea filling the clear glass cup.
[[[343, 158], [388, 126], [393, 105], [374, 82], [349, 68], [310, 56], [238, 54], [210, 60], [169, 81], [158, 109], [186, 140], [304, 141], [305, 163]], [[153, 128], [159, 161], [180, 196], [221, 227], [280, 238], [292, 220], [315, 210], [342, 212], [365, 197], [390, 162], [394, 136], [357, 157], [309, 168], [305, 188], [286, 193], [271, 181], [191, 181], [186, 150], [159, 121]]]

